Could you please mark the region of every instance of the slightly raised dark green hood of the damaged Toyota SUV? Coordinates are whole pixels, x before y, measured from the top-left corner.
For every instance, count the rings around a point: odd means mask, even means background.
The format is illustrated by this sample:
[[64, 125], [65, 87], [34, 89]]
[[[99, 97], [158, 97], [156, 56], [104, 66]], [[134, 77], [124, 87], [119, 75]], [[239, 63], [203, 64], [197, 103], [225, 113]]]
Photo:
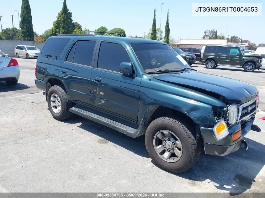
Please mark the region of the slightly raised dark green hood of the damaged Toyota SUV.
[[155, 74], [153, 77], [208, 94], [226, 103], [241, 104], [255, 99], [258, 90], [255, 86], [239, 80], [195, 71], [180, 74]]

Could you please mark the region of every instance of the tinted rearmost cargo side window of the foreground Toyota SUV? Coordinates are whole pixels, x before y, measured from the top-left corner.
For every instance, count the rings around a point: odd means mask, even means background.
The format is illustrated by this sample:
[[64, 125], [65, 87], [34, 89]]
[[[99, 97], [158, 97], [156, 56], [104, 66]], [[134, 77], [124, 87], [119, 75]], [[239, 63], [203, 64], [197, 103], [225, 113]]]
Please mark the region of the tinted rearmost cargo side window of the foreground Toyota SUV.
[[71, 38], [50, 38], [41, 51], [41, 57], [57, 60]]

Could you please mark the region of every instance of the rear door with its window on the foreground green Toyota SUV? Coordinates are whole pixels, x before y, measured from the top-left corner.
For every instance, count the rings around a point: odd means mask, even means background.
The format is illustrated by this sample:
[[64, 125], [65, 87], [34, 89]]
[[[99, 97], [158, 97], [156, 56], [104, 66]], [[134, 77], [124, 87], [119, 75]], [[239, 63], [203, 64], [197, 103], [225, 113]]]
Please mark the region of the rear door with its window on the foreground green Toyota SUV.
[[60, 79], [66, 85], [69, 98], [74, 102], [85, 105], [91, 103], [90, 76], [96, 43], [95, 40], [76, 41], [61, 64]]

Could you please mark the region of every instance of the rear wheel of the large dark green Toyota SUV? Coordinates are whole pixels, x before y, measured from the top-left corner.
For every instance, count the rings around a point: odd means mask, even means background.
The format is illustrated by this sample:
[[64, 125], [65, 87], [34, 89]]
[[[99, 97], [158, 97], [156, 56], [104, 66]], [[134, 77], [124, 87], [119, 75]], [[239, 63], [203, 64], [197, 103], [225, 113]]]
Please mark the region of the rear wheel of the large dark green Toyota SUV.
[[[51, 99], [52, 96], [53, 99]], [[55, 99], [57, 99], [57, 102]], [[72, 113], [69, 110], [71, 107], [73, 107], [73, 103], [70, 101], [68, 95], [61, 85], [55, 85], [49, 89], [47, 100], [50, 113], [54, 119], [63, 121], [72, 117]], [[51, 100], [53, 104], [57, 104], [59, 106], [53, 107], [51, 105]]]

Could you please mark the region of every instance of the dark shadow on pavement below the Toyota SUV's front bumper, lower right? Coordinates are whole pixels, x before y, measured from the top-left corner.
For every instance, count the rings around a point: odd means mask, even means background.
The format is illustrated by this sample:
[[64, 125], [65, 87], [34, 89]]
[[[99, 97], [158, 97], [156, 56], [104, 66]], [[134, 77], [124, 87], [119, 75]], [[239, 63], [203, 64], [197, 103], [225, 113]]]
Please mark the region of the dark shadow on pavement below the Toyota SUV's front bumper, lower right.
[[227, 156], [206, 155], [202, 151], [195, 166], [187, 172], [175, 174], [193, 180], [215, 182], [215, 187], [229, 191], [230, 195], [238, 195], [250, 189], [252, 185], [264, 191], [263, 177], [255, 180], [265, 164], [265, 145], [244, 138], [249, 145], [248, 150], [238, 150]]

